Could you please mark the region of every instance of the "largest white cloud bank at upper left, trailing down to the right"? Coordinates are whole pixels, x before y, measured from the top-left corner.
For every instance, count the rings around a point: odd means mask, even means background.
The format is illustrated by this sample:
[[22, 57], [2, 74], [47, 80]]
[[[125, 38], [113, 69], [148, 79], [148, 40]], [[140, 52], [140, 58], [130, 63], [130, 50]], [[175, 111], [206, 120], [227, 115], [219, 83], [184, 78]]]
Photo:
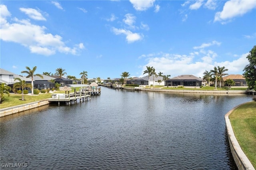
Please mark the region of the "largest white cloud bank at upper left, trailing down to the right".
[[44, 26], [38, 26], [30, 23], [30, 20], [18, 20], [13, 18], [12, 23], [1, 24], [1, 40], [6, 42], [19, 43], [28, 49], [31, 53], [41, 55], [53, 55], [56, 51], [63, 53], [77, 54], [78, 50], [83, 49], [82, 43], [70, 48], [62, 41], [59, 35], [46, 33]]

